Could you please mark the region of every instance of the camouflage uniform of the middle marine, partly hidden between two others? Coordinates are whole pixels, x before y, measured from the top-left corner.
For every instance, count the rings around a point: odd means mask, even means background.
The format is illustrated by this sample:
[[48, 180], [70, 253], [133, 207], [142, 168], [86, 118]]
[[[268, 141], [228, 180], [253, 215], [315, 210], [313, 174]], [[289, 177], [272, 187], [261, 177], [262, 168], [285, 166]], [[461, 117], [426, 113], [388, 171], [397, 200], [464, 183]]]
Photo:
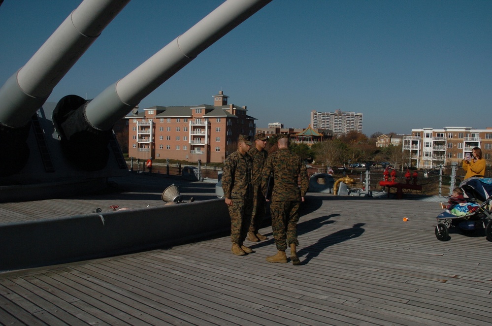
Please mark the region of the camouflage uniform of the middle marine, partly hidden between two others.
[[265, 150], [259, 151], [256, 147], [251, 147], [248, 154], [253, 158], [253, 171], [251, 173], [253, 183], [253, 212], [249, 231], [257, 234], [266, 214], [266, 201], [262, 192], [262, 168], [268, 154]]

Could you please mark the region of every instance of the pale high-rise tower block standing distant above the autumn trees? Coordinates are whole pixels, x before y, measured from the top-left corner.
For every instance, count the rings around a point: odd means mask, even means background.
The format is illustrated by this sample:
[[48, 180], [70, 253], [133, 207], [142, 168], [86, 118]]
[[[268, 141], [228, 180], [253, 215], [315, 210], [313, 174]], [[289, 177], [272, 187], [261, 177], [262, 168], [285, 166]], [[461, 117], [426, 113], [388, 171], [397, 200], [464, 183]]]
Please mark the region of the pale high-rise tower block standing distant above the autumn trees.
[[333, 130], [333, 136], [340, 136], [351, 131], [362, 133], [362, 113], [311, 111], [311, 127], [313, 129]]

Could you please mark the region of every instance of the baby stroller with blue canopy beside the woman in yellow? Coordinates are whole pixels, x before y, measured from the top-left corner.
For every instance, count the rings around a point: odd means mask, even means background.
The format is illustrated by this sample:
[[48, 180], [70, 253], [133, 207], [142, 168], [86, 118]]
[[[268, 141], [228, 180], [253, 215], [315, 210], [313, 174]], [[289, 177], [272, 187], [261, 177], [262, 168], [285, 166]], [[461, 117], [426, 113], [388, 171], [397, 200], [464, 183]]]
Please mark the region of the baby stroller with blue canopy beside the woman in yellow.
[[465, 203], [459, 205], [466, 210], [459, 215], [456, 210], [447, 209], [437, 216], [435, 235], [438, 240], [449, 240], [449, 228], [457, 227], [465, 234], [483, 228], [487, 240], [492, 241], [491, 183], [491, 178], [472, 177], [459, 185], [465, 197]]

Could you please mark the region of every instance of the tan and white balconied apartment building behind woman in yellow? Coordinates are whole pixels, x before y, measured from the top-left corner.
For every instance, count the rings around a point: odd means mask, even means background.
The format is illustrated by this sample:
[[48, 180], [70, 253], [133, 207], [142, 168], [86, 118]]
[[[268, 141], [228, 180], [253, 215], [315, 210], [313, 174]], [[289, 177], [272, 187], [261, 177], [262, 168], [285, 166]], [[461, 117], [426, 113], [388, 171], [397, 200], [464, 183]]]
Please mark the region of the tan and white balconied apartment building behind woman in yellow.
[[444, 129], [412, 129], [411, 136], [403, 137], [403, 151], [409, 154], [411, 166], [433, 168], [440, 164], [461, 163], [473, 147], [482, 150], [487, 164], [492, 159], [492, 127], [445, 127]]

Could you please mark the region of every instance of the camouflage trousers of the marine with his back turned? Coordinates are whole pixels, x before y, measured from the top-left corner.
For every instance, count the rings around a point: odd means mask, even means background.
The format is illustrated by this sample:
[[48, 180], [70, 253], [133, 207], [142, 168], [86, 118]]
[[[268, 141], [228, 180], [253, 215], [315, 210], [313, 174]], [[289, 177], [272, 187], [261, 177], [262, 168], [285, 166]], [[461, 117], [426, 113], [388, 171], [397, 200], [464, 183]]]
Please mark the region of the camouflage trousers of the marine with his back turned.
[[299, 245], [296, 230], [299, 221], [299, 205], [298, 200], [271, 202], [272, 230], [277, 250], [285, 251], [291, 243]]

